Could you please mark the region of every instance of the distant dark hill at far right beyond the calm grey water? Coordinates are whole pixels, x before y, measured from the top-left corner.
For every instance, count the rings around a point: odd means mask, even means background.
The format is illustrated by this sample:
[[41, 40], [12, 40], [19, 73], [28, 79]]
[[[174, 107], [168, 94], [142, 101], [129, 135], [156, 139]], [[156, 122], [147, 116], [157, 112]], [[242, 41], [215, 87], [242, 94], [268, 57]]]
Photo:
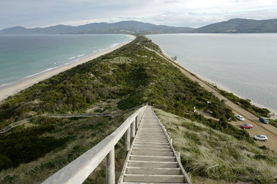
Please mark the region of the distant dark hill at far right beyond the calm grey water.
[[202, 33], [255, 33], [255, 32], [277, 32], [277, 19], [253, 20], [253, 19], [231, 19], [213, 23], [195, 29]]

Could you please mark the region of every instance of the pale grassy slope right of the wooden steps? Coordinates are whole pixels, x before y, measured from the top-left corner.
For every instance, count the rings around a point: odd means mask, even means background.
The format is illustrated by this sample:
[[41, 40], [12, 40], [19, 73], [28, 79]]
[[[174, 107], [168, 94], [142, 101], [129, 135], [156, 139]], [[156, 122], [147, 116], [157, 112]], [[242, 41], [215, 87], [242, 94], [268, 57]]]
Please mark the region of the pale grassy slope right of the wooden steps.
[[156, 109], [171, 133], [175, 149], [181, 152], [185, 170], [206, 183], [277, 183], [277, 155], [267, 147], [234, 139], [230, 134]]

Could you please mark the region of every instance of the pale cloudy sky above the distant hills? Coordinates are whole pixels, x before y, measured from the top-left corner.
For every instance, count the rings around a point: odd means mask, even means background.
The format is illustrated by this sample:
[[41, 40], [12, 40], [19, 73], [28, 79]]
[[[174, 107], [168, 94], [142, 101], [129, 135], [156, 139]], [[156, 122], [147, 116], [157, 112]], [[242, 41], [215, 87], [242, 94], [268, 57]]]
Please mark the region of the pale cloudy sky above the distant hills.
[[0, 0], [0, 29], [136, 20], [190, 26], [277, 18], [277, 0]]

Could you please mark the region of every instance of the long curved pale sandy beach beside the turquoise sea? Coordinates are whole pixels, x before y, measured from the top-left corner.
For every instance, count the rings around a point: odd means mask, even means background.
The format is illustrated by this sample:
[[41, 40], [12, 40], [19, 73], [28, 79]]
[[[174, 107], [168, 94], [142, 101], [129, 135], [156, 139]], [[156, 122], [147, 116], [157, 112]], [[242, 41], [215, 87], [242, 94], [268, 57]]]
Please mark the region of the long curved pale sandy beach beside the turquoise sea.
[[[129, 35], [129, 36], [132, 36], [132, 35]], [[69, 70], [77, 65], [86, 63], [87, 61], [91, 61], [92, 59], [96, 59], [104, 54], [108, 54], [109, 52], [112, 52], [112, 51], [122, 47], [123, 45], [130, 43], [135, 38], [136, 37], [132, 36], [132, 39], [130, 39], [129, 41], [126, 41], [124, 43], [118, 44], [114, 48], [109, 48], [107, 50], [103, 50], [101, 52], [90, 55], [88, 57], [84, 57], [83, 59], [80, 59], [80, 60], [70, 63], [68, 65], [62, 65], [59, 68], [55, 68], [55, 69], [49, 70], [47, 72], [42, 72], [42, 73], [32, 76], [28, 79], [19, 80], [19, 82], [15, 82], [15, 84], [13, 84], [13, 85], [9, 85], [5, 88], [1, 88], [0, 89], [0, 101], [8, 98], [8, 96], [11, 96], [12, 94], [16, 94], [16, 93], [20, 92], [21, 90], [24, 90], [24, 89], [30, 87], [31, 85], [34, 85], [35, 83], [38, 83], [40, 81], [50, 78], [51, 76], [59, 74], [60, 72], [64, 72], [65, 70]]]

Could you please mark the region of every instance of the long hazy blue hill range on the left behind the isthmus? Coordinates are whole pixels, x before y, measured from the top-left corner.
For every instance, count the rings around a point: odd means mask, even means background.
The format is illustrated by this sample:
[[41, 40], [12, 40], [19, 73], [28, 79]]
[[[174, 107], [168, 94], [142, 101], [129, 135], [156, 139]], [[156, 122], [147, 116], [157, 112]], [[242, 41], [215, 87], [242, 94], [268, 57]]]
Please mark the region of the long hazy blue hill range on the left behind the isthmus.
[[80, 26], [55, 25], [48, 28], [14, 27], [0, 30], [0, 34], [90, 34], [90, 33], [181, 33], [193, 32], [194, 28], [154, 25], [139, 21], [116, 23], [89, 23]]

